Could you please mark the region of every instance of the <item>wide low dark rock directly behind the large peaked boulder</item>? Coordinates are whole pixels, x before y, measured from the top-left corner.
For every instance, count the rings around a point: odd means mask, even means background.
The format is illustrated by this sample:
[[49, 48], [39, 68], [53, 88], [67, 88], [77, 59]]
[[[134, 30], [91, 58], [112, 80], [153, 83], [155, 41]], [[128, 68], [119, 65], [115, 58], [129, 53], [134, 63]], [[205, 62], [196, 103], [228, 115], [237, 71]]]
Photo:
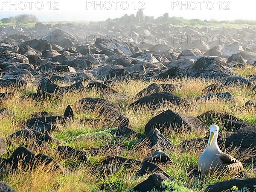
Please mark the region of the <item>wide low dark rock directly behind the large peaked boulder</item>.
[[143, 105], [159, 105], [163, 102], [170, 102], [175, 105], [186, 105], [186, 100], [181, 99], [178, 96], [168, 92], [154, 93], [152, 95], [145, 96], [136, 102], [131, 104], [131, 107], [139, 107]]

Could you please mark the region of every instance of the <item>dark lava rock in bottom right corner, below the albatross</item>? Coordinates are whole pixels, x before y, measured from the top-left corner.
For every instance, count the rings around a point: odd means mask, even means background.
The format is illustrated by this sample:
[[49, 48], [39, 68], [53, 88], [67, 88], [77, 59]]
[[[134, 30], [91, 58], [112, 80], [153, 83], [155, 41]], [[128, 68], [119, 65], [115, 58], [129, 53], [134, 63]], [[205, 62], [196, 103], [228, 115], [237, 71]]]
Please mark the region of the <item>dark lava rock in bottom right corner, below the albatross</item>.
[[239, 190], [242, 190], [244, 187], [250, 190], [250, 192], [255, 192], [256, 188], [256, 178], [244, 178], [244, 179], [233, 179], [226, 180], [220, 183], [214, 183], [209, 185], [204, 192], [222, 192], [227, 191], [233, 186], [237, 186]]

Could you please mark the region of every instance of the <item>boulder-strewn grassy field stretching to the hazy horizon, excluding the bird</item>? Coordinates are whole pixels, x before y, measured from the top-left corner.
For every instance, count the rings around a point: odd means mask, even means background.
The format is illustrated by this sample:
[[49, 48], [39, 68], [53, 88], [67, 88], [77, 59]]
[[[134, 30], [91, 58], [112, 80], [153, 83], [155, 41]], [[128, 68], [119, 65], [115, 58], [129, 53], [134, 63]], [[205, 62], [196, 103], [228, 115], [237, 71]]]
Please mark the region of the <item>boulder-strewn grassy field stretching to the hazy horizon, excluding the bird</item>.
[[[256, 190], [256, 27], [169, 21], [0, 26], [1, 192]], [[198, 171], [212, 124], [239, 177]]]

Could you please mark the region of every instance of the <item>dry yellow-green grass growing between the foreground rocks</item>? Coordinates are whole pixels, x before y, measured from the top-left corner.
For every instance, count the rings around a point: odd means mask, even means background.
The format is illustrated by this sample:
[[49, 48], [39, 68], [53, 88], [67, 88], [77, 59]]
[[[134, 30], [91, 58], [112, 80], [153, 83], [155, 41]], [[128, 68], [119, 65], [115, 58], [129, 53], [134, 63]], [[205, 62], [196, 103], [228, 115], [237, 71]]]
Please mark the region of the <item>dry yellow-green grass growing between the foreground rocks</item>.
[[[244, 72], [241, 72], [244, 73]], [[140, 108], [140, 110], [135, 111], [133, 108], [129, 108], [129, 105], [136, 99], [134, 96], [143, 90], [145, 87], [151, 83], [171, 83], [176, 85], [181, 85], [181, 89], [175, 92], [175, 95], [182, 98], [188, 98], [192, 104], [189, 108], [184, 108], [183, 106], [175, 105], [162, 105], [157, 110], [152, 110], [149, 106]], [[117, 90], [119, 93], [124, 93], [127, 95], [127, 99], [119, 100], [111, 98], [112, 102], [116, 102], [121, 105], [122, 112], [130, 119], [132, 128], [144, 134], [145, 124], [154, 116], [162, 113], [166, 110], [173, 110], [180, 113], [184, 113], [190, 116], [198, 116], [204, 112], [213, 110], [220, 112], [227, 112], [233, 116], [239, 117], [246, 122], [256, 123], [256, 111], [253, 108], [244, 109], [241, 108], [245, 102], [248, 100], [256, 100], [256, 94], [252, 93], [250, 87], [237, 87], [230, 86], [224, 87], [222, 92], [230, 92], [236, 102], [227, 102], [218, 99], [200, 100], [195, 101], [192, 97], [201, 96], [204, 87], [215, 83], [215, 81], [204, 81], [202, 79], [181, 79], [181, 80], [170, 80], [170, 81], [133, 81], [128, 82], [116, 82], [111, 85], [111, 87]], [[85, 84], [86, 85], [86, 84]], [[8, 92], [12, 90], [0, 89], [0, 93]], [[35, 92], [36, 87], [28, 87], [27, 90], [20, 90], [15, 93], [12, 98], [6, 99], [4, 102], [0, 103], [0, 108], [8, 108], [13, 111], [12, 116], [1, 117], [0, 119], [0, 136], [8, 137], [15, 131], [20, 130], [22, 127], [18, 124], [18, 121], [29, 119], [29, 115], [39, 111], [52, 112], [53, 115], [63, 115], [67, 105], [74, 107], [74, 103], [79, 101], [84, 97], [100, 97], [100, 94], [96, 90], [84, 91], [83, 93], [67, 93], [58, 102], [45, 101], [44, 103], [35, 102], [31, 99], [20, 99], [25, 93]], [[103, 97], [105, 98], [105, 97]], [[104, 131], [109, 128], [113, 128], [112, 125], [108, 127], [103, 127], [104, 122], [100, 122], [98, 125], [92, 125], [90, 122], [81, 119], [91, 118], [97, 116], [97, 111], [94, 113], [81, 113], [76, 111], [76, 118], [67, 125], [60, 125], [58, 130], [55, 130], [52, 134], [61, 140], [61, 145], [69, 145], [73, 148], [79, 150], [89, 150], [91, 148], [103, 146], [111, 142], [113, 136], [106, 135], [105, 138], [101, 137], [90, 137], [91, 134]], [[89, 136], [88, 136], [89, 134]], [[201, 138], [206, 136], [206, 132], [171, 132], [166, 135], [175, 144], [175, 150], [166, 151], [174, 162], [173, 165], [162, 167], [169, 175], [175, 179], [183, 182], [192, 191], [204, 191], [209, 183], [221, 181], [228, 179], [229, 177], [219, 177], [209, 176], [205, 180], [191, 177], [189, 172], [193, 167], [197, 166], [197, 160], [200, 156], [201, 150], [196, 150], [196, 148], [189, 148], [187, 150], [181, 150], [179, 148], [180, 143], [183, 140], [192, 138]], [[101, 186], [105, 186], [105, 190], [108, 191], [122, 191], [131, 189], [137, 183], [147, 178], [139, 177], [136, 178], [137, 168], [131, 170], [119, 170], [111, 176], [106, 176], [105, 178], [96, 177], [93, 173], [93, 166], [100, 162], [103, 157], [110, 155], [109, 151], [107, 153], [102, 152], [100, 155], [89, 156], [89, 163], [78, 163], [75, 162], [73, 166], [70, 166], [69, 160], [64, 160], [55, 154], [54, 148], [56, 145], [51, 145], [50, 149], [42, 148], [32, 148], [36, 153], [44, 153], [55, 159], [57, 162], [61, 163], [62, 166], [68, 169], [67, 173], [60, 175], [57, 173], [48, 172], [44, 168], [38, 168], [34, 171], [17, 171], [15, 173], [5, 175], [3, 181], [9, 183], [12, 187], [17, 189], [18, 192], [80, 192], [80, 191], [100, 191]], [[126, 149], [124, 152], [111, 151], [111, 155], [121, 155], [122, 157], [135, 158], [137, 160], [143, 160], [146, 155], [148, 155], [150, 150], [143, 147], [142, 145], [132, 147], [130, 150]], [[238, 157], [237, 151], [233, 154]], [[239, 157], [238, 157], [239, 158]], [[241, 155], [240, 155], [241, 158]], [[246, 168], [246, 175], [248, 177], [255, 176], [253, 169]]]

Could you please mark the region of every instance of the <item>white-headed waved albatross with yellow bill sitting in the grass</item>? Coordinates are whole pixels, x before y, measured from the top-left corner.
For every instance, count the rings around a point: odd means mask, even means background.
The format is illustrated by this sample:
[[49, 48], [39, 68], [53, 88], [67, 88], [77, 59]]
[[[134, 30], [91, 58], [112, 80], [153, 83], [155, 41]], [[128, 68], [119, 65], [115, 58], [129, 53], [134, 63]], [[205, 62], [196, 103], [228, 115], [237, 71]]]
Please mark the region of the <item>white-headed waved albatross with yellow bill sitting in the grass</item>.
[[229, 154], [225, 154], [218, 147], [218, 125], [210, 126], [210, 137], [205, 151], [198, 160], [198, 169], [202, 174], [225, 172], [236, 175], [243, 171], [243, 165]]

